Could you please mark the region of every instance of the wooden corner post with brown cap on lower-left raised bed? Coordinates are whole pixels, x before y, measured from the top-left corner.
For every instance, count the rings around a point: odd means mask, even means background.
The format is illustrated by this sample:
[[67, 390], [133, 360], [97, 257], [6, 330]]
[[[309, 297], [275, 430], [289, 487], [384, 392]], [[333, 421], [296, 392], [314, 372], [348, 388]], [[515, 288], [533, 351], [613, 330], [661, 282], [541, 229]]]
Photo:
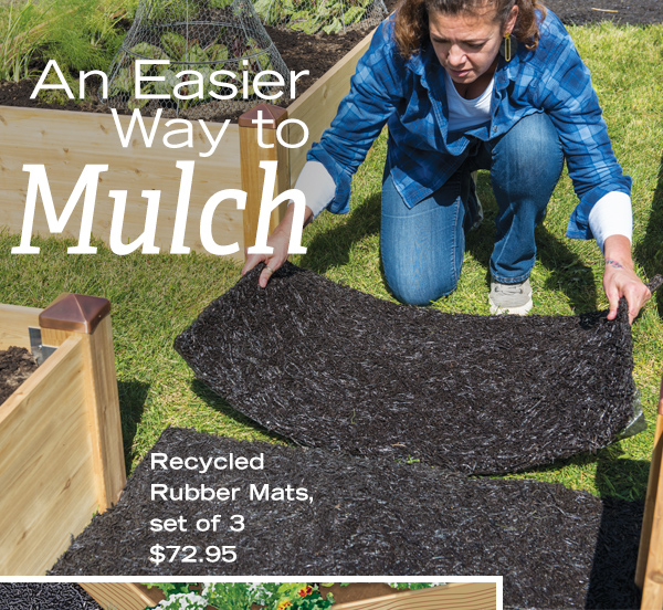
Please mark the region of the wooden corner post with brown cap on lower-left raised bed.
[[62, 294], [39, 316], [43, 345], [57, 347], [74, 334], [83, 340], [99, 512], [117, 502], [126, 483], [109, 313], [106, 298]]

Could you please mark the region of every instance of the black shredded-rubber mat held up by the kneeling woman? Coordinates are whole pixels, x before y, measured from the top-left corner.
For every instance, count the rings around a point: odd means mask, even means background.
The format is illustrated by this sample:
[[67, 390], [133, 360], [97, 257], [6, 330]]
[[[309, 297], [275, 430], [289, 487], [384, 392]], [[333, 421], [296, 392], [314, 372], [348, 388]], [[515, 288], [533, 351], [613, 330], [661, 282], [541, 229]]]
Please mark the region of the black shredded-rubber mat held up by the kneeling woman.
[[625, 311], [451, 315], [260, 267], [176, 339], [197, 377], [264, 428], [473, 474], [596, 451], [633, 412]]

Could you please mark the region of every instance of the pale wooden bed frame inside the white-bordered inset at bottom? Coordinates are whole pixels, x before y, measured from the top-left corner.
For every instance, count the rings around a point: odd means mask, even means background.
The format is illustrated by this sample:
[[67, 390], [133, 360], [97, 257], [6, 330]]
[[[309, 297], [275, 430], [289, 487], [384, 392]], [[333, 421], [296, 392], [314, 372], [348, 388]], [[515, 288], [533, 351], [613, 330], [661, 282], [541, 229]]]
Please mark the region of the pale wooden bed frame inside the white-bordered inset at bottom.
[[[112, 610], [144, 610], [164, 599], [160, 590], [134, 582], [80, 582], [96, 601]], [[496, 582], [450, 582], [432, 589], [406, 591], [347, 603], [332, 610], [494, 610]]]

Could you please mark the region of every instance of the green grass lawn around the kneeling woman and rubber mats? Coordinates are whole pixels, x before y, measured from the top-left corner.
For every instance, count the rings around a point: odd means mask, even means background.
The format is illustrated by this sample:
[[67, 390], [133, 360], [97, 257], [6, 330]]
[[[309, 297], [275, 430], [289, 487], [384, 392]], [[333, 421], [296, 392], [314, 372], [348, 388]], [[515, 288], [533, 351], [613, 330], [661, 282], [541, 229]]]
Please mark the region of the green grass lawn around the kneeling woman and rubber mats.
[[[634, 259], [644, 278], [663, 272], [663, 27], [603, 24], [571, 28], [592, 71], [618, 159], [633, 177]], [[379, 199], [386, 151], [382, 135], [360, 168], [352, 212], [324, 213], [305, 232], [308, 254], [293, 262], [335, 282], [390, 299], [380, 274]], [[221, 188], [221, 186], [220, 186]], [[472, 233], [457, 291], [433, 307], [488, 314], [487, 261], [495, 202], [480, 173], [486, 221]], [[538, 229], [532, 274], [537, 314], [571, 315], [607, 307], [602, 257], [594, 242], [565, 238], [577, 203], [565, 175]], [[240, 266], [209, 255], [116, 256], [102, 244], [97, 255], [67, 255], [60, 239], [34, 240], [41, 255], [12, 255], [17, 235], [0, 233], [0, 303], [45, 307], [61, 292], [105, 296], [113, 326], [127, 467], [133, 470], [167, 425], [192, 427], [238, 439], [283, 440], [253, 425], [194, 381], [172, 341], [218, 295], [232, 286]], [[663, 291], [662, 291], [663, 292]], [[634, 377], [650, 423], [663, 372], [663, 295], [633, 325]], [[653, 429], [598, 455], [582, 455], [519, 477], [559, 482], [599, 495], [643, 497]]]

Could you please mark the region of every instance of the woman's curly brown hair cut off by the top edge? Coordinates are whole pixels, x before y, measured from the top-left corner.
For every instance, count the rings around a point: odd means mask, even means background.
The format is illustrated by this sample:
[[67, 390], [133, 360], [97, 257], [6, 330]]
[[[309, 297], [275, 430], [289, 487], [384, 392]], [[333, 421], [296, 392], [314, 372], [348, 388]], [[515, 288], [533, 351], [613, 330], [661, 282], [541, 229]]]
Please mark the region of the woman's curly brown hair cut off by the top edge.
[[429, 40], [429, 13], [472, 13], [484, 7], [495, 7], [496, 19], [506, 23], [513, 7], [518, 6], [518, 18], [512, 34], [530, 51], [539, 40], [535, 10], [545, 17], [546, 8], [538, 0], [402, 0], [396, 12], [393, 35], [401, 55], [409, 59]]

